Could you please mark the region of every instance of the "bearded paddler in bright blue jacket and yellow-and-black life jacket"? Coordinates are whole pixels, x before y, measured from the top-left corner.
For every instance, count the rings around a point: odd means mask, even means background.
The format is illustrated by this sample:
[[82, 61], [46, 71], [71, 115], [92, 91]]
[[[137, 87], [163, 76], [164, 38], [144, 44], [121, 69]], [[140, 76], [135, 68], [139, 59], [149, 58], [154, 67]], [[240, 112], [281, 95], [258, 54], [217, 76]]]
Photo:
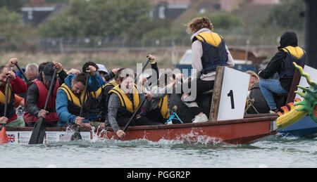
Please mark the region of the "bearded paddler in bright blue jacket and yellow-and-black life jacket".
[[[90, 79], [87, 88], [85, 101], [84, 90], [87, 79], [87, 74], [70, 74], [65, 79], [65, 83], [57, 91], [56, 96], [56, 112], [59, 118], [58, 126], [66, 126], [77, 124], [81, 127], [89, 127], [89, 94], [92, 91], [97, 91], [101, 87], [101, 79], [96, 74], [96, 67], [89, 66]], [[83, 107], [83, 115], [80, 117], [80, 108]]]

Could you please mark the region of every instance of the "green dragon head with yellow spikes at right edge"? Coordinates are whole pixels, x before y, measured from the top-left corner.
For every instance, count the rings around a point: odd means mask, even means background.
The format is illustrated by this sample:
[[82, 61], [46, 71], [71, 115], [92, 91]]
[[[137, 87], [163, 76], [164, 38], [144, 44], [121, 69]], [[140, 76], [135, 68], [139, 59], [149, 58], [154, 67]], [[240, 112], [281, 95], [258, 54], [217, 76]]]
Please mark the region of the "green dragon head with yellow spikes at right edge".
[[301, 108], [298, 108], [298, 111], [305, 111], [309, 114], [313, 121], [317, 122], [317, 83], [311, 80], [309, 74], [304, 72], [303, 68], [293, 63], [293, 65], [299, 70], [303, 77], [306, 77], [306, 80], [309, 84], [309, 88], [304, 88], [303, 86], [297, 86], [299, 89], [302, 89], [303, 92], [295, 91], [299, 96], [304, 98], [303, 101], [294, 103], [294, 105], [302, 105]]

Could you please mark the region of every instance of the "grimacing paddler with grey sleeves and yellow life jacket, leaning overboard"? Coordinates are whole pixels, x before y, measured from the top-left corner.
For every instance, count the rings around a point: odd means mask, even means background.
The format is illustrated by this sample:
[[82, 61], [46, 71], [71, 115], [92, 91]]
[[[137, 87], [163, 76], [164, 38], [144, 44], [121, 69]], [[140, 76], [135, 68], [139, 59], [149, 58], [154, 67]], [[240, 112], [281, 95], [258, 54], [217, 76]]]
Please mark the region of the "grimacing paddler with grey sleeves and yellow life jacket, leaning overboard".
[[[120, 126], [125, 126], [136, 112], [138, 106], [144, 99], [151, 100], [151, 92], [143, 93], [142, 89], [137, 87], [134, 82], [135, 74], [130, 69], [125, 69], [120, 74], [120, 84], [113, 87], [109, 91], [108, 98], [108, 120], [106, 126], [111, 126], [113, 131], [121, 138], [125, 136], [125, 132], [120, 129]], [[147, 98], [146, 98], [147, 96]], [[144, 110], [149, 108], [144, 104]], [[160, 124], [151, 122], [147, 117], [137, 116], [132, 119], [129, 126], [154, 125]]]

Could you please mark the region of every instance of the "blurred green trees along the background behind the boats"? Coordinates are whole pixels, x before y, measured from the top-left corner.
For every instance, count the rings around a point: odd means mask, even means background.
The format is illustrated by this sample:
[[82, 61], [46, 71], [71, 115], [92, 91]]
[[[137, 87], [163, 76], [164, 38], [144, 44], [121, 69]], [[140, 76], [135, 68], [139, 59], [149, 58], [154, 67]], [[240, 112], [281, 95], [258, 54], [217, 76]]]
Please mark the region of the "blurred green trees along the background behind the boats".
[[[0, 0], [0, 45], [5, 50], [19, 49], [28, 43], [30, 37], [111, 37], [113, 39], [183, 39], [188, 37], [183, 23], [174, 25], [171, 20], [150, 17], [154, 6], [148, 0], [45, 0], [47, 3], [64, 3], [61, 13], [48, 18], [44, 24], [35, 27], [21, 20], [21, 7], [32, 0]], [[261, 18], [247, 34], [266, 34], [280, 30], [303, 30], [304, 1], [282, 0], [273, 6], [266, 18]], [[214, 27], [228, 34], [237, 29], [246, 30], [244, 22], [230, 13], [203, 13]], [[188, 20], [189, 21], [189, 20]], [[6, 40], [6, 41], [4, 41]], [[5, 44], [3, 44], [5, 42]]]

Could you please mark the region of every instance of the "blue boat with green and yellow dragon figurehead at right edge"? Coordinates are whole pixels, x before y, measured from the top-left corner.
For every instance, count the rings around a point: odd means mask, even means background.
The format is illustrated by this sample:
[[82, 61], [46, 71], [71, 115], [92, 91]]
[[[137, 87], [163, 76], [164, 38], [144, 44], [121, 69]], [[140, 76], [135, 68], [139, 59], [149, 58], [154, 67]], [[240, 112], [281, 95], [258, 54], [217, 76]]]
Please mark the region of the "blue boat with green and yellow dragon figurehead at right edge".
[[[295, 137], [316, 137], [317, 136], [317, 84], [311, 80], [309, 74], [304, 72], [302, 67], [294, 63], [297, 70], [302, 75], [303, 79], [297, 86], [301, 91], [294, 91], [299, 94], [301, 98], [295, 98], [294, 103], [288, 103], [282, 107], [283, 113], [279, 112], [278, 118], [278, 134], [281, 136], [295, 136]], [[311, 70], [316, 78], [316, 70], [311, 67], [304, 67]], [[298, 72], [297, 71], [297, 72]], [[306, 78], [306, 83], [302, 82]], [[304, 86], [304, 84], [306, 86]], [[290, 109], [289, 109], [290, 108]]]

